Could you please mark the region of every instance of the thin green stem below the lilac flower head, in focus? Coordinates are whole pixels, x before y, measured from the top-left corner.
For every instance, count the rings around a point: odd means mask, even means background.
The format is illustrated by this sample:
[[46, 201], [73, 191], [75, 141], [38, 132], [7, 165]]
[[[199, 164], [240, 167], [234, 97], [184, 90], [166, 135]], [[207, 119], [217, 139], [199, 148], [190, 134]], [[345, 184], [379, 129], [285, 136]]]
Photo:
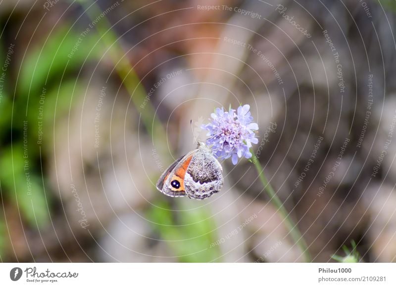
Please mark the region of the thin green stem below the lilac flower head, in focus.
[[300, 231], [298, 230], [297, 225], [293, 222], [293, 219], [289, 216], [289, 212], [286, 210], [285, 206], [283, 205], [282, 201], [276, 195], [274, 189], [272, 188], [271, 184], [268, 182], [267, 177], [264, 174], [264, 168], [261, 166], [260, 162], [258, 161], [255, 153], [250, 150], [251, 154], [253, 155], [251, 158], [251, 162], [257, 169], [258, 176], [264, 189], [268, 196], [270, 197], [272, 203], [278, 208], [278, 211], [283, 216], [285, 225], [289, 230], [290, 235], [292, 236], [296, 245], [301, 249], [302, 253], [304, 254], [305, 261], [311, 262], [311, 256], [309, 255], [308, 247], [301, 236]]

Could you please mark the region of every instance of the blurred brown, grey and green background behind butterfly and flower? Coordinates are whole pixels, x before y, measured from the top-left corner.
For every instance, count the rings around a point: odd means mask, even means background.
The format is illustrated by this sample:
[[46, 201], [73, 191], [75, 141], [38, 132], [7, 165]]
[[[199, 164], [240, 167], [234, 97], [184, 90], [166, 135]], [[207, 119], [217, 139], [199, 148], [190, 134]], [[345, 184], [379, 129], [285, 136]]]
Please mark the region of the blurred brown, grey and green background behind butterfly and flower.
[[[396, 261], [395, 0], [0, 1], [2, 262], [303, 262], [247, 160], [155, 188], [249, 104], [314, 262]], [[192, 121], [192, 126], [190, 125]]]

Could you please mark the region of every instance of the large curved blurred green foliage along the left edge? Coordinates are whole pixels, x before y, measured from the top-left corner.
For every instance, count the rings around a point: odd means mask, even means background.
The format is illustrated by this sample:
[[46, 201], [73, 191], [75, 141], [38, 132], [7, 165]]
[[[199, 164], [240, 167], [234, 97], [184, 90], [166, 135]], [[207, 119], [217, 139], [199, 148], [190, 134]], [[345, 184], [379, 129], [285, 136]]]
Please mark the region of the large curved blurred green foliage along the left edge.
[[[22, 63], [15, 98], [6, 96], [5, 83], [2, 87], [0, 136], [2, 139], [6, 136], [0, 150], [2, 190], [6, 199], [18, 206], [30, 226], [41, 227], [49, 221], [38, 166], [41, 160], [37, 144], [39, 130], [47, 138], [52, 136], [54, 117], [67, 115], [73, 92], [80, 91], [73, 72], [78, 72], [86, 59], [95, 57], [100, 48], [98, 45], [90, 53], [97, 35], [81, 32], [68, 32], [64, 28], [52, 33], [47, 41], [43, 37], [43, 42], [37, 43]], [[12, 86], [12, 82], [8, 85]], [[12, 130], [12, 139], [5, 134], [9, 130]], [[8, 143], [10, 139], [12, 147]]]

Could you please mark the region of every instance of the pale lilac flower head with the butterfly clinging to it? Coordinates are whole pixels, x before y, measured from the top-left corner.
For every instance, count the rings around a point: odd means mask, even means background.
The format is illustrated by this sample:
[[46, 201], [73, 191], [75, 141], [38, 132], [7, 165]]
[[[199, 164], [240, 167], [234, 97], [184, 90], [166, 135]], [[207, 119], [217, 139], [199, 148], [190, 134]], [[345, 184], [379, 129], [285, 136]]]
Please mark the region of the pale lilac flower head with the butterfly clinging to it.
[[249, 148], [251, 144], [257, 144], [255, 132], [258, 130], [257, 123], [253, 123], [253, 117], [249, 112], [250, 106], [244, 105], [237, 111], [217, 108], [211, 116], [211, 123], [202, 124], [202, 129], [207, 129], [206, 144], [211, 146], [217, 158], [228, 159], [232, 157], [232, 163], [237, 164], [238, 158], [251, 158]]

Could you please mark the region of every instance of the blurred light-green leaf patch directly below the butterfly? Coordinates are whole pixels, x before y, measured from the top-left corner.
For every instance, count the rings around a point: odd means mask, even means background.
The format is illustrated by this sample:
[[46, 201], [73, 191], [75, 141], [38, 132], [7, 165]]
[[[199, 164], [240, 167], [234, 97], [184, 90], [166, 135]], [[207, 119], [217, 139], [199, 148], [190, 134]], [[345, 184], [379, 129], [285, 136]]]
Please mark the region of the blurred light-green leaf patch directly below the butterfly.
[[[163, 240], [181, 262], [217, 261], [220, 256], [218, 246], [210, 245], [217, 240], [215, 224], [204, 207], [189, 208], [186, 211], [172, 211], [165, 201], [153, 206], [148, 217]], [[176, 219], [174, 219], [176, 218]]]

